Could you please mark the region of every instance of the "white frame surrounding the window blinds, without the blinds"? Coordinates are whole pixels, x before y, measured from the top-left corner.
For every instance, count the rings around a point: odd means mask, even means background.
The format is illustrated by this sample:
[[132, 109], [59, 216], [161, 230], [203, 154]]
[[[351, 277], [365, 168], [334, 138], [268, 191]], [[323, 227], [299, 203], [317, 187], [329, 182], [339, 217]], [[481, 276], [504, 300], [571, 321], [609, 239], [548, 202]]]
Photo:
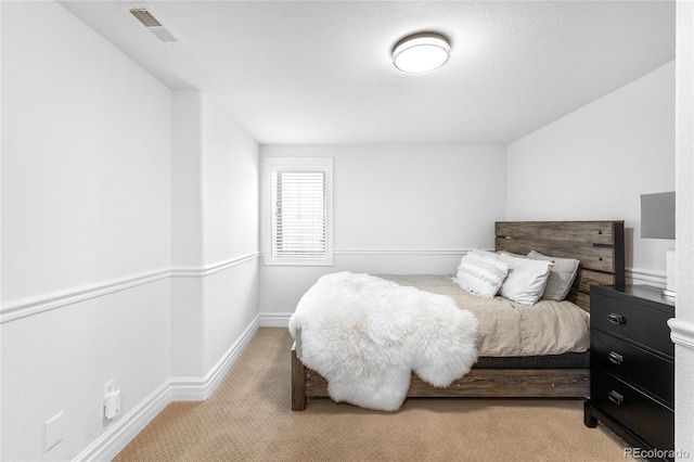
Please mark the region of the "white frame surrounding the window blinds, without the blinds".
[[[325, 174], [325, 256], [323, 258], [286, 258], [272, 255], [272, 174], [275, 171], [322, 171]], [[262, 257], [266, 266], [333, 265], [333, 158], [266, 157], [262, 163]]]

